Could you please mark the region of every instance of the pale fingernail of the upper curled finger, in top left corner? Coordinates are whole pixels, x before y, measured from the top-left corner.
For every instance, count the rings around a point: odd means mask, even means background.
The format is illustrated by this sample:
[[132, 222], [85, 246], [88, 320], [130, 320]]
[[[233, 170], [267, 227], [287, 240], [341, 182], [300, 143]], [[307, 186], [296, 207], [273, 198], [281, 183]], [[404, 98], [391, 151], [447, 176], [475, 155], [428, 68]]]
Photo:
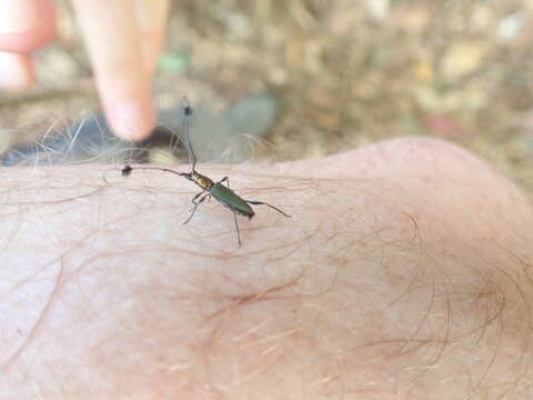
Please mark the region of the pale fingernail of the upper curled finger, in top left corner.
[[42, 2], [36, 0], [1, 0], [0, 33], [18, 33], [36, 28]]

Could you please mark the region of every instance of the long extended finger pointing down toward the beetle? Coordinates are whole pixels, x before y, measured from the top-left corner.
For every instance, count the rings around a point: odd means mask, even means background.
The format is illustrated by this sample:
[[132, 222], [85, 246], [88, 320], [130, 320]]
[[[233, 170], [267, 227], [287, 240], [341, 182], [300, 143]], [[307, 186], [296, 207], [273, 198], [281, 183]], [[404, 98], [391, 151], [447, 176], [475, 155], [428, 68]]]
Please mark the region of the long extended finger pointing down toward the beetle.
[[113, 131], [141, 140], [153, 127], [151, 77], [144, 68], [133, 2], [72, 0]]

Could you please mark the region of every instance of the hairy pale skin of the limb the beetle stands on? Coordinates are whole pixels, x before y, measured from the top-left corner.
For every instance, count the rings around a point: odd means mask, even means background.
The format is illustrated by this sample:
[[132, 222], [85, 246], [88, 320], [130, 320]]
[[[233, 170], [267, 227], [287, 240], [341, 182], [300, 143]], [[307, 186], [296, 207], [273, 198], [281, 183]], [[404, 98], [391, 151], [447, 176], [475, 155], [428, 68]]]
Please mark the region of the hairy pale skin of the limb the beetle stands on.
[[191, 182], [120, 168], [2, 171], [0, 398], [531, 398], [533, 210], [466, 151], [198, 166], [292, 216], [241, 248], [215, 202], [181, 223]]

